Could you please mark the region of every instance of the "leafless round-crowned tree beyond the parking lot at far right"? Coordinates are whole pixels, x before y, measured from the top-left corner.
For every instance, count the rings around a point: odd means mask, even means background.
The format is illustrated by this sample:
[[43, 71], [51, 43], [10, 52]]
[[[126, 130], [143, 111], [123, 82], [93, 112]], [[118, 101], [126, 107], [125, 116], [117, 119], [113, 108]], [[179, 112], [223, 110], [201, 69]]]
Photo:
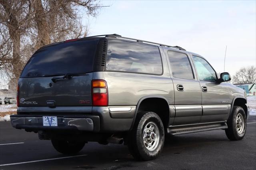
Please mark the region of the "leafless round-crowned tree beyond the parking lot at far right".
[[233, 76], [233, 83], [255, 83], [256, 82], [256, 67], [242, 67]]

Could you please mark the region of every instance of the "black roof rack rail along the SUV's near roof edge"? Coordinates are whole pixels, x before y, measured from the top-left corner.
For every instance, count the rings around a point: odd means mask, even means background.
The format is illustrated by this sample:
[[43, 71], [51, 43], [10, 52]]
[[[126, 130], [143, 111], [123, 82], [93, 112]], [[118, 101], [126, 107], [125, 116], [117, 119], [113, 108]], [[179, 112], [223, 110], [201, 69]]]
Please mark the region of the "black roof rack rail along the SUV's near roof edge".
[[171, 48], [176, 48], [176, 49], [186, 51], [186, 49], [184, 49], [180, 46], [171, 46], [171, 45], [165, 45], [165, 44], [161, 44], [161, 43], [149, 42], [149, 41], [145, 41], [145, 40], [138, 40], [138, 39], [134, 39], [134, 38], [122, 37], [118, 34], [106, 34], [106, 35], [100, 35], [100, 36], [90, 36], [90, 37], [85, 37], [85, 38], [102, 37], [102, 36], [112, 37], [112, 38], [120, 38], [120, 39], [124, 39], [124, 40], [134, 40], [136, 42], [142, 42], [142, 43], [151, 43], [151, 44], [156, 44], [156, 45], [160, 45], [160, 46], [164, 46], [164, 47], [171, 47]]

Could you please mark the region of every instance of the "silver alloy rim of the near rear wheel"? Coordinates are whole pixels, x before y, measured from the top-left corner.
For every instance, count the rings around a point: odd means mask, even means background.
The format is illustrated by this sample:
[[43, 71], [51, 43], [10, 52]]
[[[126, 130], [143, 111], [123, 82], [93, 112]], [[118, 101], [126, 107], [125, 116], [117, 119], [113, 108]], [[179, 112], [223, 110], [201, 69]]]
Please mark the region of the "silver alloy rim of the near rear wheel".
[[147, 150], [153, 151], [159, 144], [159, 129], [154, 122], [149, 122], [143, 130], [143, 143]]

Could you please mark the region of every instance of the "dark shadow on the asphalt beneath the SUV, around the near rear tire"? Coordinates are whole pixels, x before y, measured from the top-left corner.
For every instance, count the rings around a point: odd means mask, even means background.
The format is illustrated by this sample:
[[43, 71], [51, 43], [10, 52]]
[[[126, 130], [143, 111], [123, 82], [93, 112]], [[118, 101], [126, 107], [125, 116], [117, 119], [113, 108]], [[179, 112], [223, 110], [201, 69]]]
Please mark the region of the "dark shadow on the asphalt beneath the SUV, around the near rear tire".
[[[218, 134], [184, 134], [179, 136], [166, 136], [165, 145], [160, 157], [154, 160], [154, 162], [160, 161], [162, 156], [174, 157], [174, 154], [180, 154], [189, 151], [190, 149], [200, 150], [201, 148], [214, 147], [220, 144], [220, 142], [229, 142], [226, 136]], [[186, 148], [186, 150], [184, 150]], [[134, 160], [128, 150], [127, 146], [118, 144], [100, 145], [96, 142], [88, 143], [80, 154], [88, 154], [83, 160], [83, 166], [75, 166], [72, 168], [102, 168], [108, 169], [120, 169], [120, 168], [136, 168], [137, 166], [145, 165], [148, 162], [140, 162]], [[78, 162], [76, 162], [78, 163]], [[105, 167], [105, 168], [104, 168]]]

